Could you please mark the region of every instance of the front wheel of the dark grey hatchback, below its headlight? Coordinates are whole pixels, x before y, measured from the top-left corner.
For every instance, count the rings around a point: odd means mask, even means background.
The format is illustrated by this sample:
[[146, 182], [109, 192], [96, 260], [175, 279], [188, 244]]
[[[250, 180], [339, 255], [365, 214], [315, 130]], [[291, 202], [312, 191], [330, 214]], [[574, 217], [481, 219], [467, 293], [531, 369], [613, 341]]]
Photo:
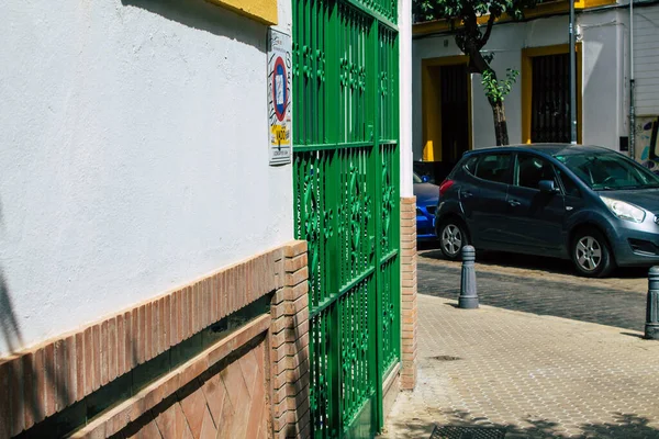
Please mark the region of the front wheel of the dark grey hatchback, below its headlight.
[[571, 246], [577, 271], [588, 278], [603, 278], [615, 268], [608, 241], [595, 229], [578, 232]]

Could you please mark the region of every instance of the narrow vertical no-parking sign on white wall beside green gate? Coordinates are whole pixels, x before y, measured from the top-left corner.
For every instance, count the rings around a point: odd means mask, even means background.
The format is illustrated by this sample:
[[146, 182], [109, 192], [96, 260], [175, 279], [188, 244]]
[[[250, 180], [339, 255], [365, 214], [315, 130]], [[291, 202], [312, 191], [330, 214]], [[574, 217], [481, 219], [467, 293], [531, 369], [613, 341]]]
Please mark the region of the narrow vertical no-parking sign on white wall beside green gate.
[[270, 166], [291, 162], [291, 37], [268, 31], [268, 137]]

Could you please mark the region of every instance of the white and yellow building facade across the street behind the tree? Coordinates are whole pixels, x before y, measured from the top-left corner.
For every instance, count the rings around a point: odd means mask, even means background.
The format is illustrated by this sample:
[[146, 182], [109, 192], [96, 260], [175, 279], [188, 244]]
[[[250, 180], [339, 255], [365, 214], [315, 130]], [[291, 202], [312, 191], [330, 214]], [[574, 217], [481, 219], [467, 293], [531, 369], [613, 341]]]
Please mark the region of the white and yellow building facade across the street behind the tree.
[[[570, 142], [568, 7], [565, 1], [541, 2], [522, 22], [500, 20], [483, 47], [494, 56], [492, 67], [500, 78], [507, 68], [520, 72], [504, 101], [511, 144]], [[627, 2], [577, 2], [579, 143], [629, 153], [632, 60], [636, 116], [644, 126], [648, 117], [656, 117], [658, 8], [655, 2], [635, 2], [630, 15]], [[451, 25], [439, 21], [414, 26], [415, 160], [455, 162], [466, 149], [495, 144], [480, 76], [467, 71]], [[639, 142], [638, 130], [634, 140]]]

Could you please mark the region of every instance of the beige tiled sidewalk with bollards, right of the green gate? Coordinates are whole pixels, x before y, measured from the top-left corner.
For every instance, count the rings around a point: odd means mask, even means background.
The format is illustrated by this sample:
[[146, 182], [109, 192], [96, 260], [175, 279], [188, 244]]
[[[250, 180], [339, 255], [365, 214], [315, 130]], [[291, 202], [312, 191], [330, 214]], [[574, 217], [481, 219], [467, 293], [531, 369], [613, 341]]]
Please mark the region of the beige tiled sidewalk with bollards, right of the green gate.
[[[462, 437], [473, 439], [496, 428], [506, 439], [659, 438], [659, 341], [455, 305], [418, 295], [418, 382], [399, 396], [382, 438], [429, 438], [435, 426], [465, 427], [474, 435]], [[438, 432], [433, 438], [460, 437]]]

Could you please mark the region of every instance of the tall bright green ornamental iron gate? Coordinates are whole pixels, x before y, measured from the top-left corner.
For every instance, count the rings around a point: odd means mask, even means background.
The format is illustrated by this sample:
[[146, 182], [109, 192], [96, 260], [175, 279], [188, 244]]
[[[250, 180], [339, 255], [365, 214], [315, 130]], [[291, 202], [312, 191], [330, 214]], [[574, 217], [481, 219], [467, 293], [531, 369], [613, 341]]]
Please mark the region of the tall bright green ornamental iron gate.
[[313, 436], [372, 437], [400, 361], [398, 1], [292, 1]]

